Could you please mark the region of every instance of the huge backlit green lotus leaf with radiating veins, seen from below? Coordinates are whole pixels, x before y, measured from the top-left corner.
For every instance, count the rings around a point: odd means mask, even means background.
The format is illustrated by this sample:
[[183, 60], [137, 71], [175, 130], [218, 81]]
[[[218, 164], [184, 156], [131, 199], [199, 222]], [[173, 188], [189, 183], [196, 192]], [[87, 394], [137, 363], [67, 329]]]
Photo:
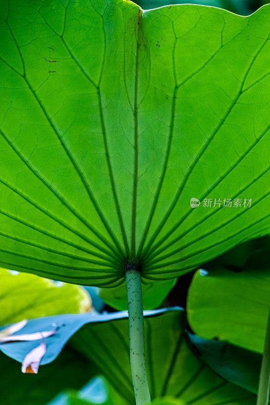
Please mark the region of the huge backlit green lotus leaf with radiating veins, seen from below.
[[266, 233], [270, 6], [0, 13], [2, 266], [115, 286], [135, 256], [175, 278]]

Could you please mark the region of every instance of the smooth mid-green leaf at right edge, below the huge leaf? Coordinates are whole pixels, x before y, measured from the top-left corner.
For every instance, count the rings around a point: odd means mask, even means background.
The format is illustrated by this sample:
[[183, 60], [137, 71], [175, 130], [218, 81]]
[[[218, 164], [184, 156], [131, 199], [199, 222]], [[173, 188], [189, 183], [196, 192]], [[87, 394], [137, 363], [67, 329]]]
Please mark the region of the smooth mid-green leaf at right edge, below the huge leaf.
[[241, 272], [224, 267], [198, 270], [187, 299], [191, 328], [203, 338], [218, 337], [262, 353], [270, 307], [269, 283], [269, 266], [263, 268], [259, 262]]

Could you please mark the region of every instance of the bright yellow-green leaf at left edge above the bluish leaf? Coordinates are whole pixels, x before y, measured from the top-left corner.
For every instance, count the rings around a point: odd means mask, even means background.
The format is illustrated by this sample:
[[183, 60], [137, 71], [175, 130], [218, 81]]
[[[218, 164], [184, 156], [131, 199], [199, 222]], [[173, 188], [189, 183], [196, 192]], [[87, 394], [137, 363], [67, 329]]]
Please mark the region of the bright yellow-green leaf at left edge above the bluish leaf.
[[0, 325], [22, 319], [91, 309], [89, 294], [82, 287], [57, 285], [34, 274], [11, 274], [0, 269]]

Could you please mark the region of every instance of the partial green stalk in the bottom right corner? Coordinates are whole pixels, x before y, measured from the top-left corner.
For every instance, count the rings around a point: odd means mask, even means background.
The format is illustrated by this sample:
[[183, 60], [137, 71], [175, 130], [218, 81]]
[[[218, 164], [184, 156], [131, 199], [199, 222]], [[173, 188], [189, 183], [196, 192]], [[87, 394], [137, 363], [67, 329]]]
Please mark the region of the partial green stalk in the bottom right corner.
[[262, 355], [257, 405], [268, 405], [270, 390], [270, 311]]

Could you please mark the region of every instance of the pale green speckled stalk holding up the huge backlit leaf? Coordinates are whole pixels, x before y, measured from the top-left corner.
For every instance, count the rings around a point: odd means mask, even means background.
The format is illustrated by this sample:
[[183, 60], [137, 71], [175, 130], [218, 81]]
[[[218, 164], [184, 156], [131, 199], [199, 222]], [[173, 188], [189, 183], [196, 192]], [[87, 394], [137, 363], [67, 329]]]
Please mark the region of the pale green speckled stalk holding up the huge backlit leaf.
[[144, 327], [140, 272], [134, 265], [126, 267], [129, 311], [130, 363], [136, 405], [148, 405], [150, 394], [144, 358]]

